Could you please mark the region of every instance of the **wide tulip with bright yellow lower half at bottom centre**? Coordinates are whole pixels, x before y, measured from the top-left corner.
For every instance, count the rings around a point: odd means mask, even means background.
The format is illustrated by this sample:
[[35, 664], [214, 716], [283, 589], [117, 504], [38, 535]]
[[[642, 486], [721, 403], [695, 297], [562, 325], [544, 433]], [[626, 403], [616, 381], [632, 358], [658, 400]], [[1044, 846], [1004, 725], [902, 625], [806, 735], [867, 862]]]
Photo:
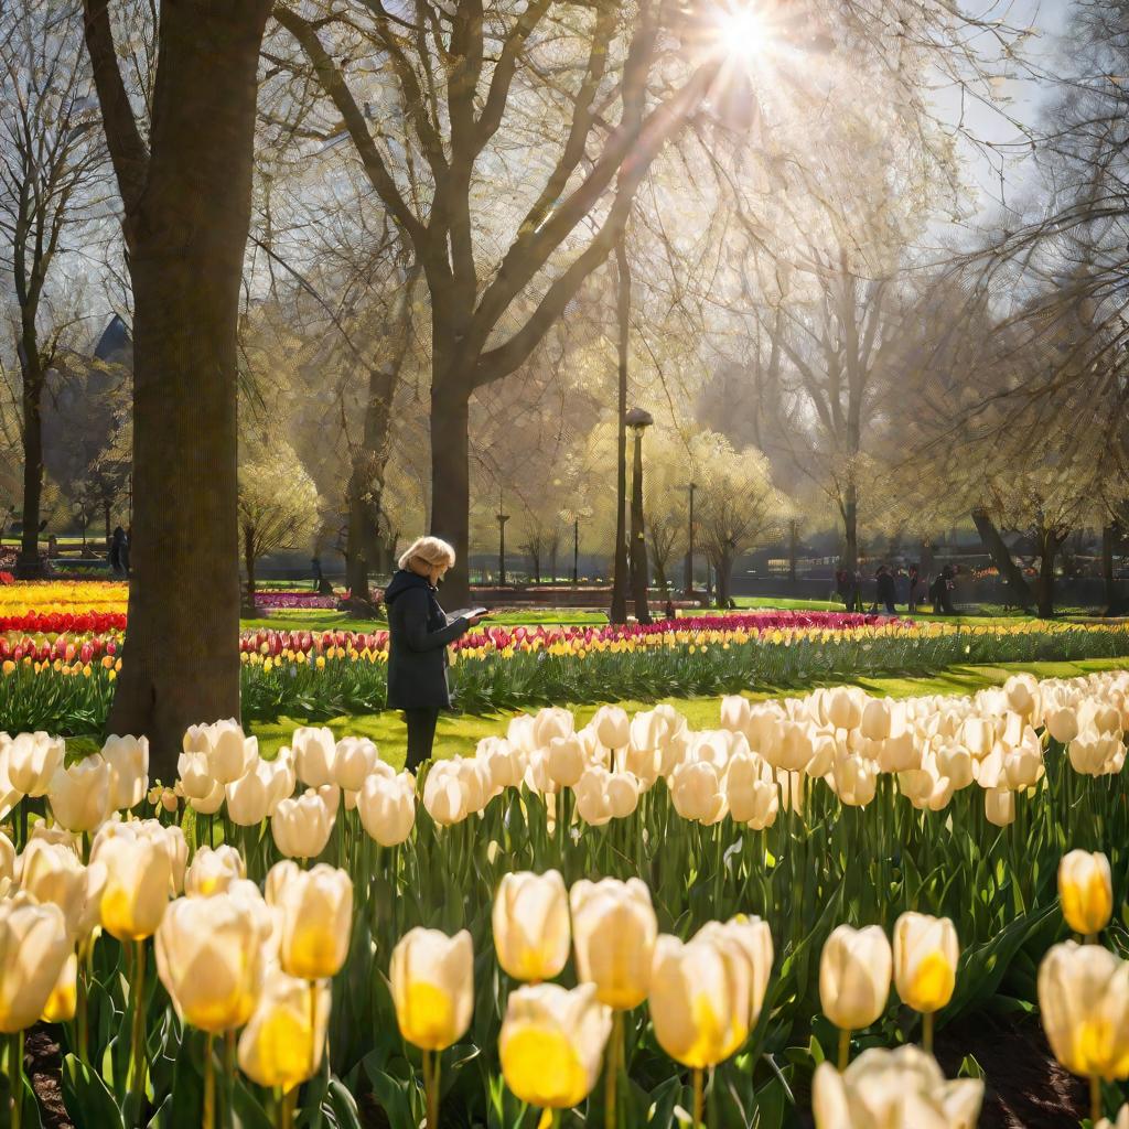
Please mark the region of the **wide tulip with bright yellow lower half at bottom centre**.
[[518, 988], [498, 1040], [506, 1085], [539, 1109], [579, 1105], [596, 1084], [611, 1030], [611, 1010], [593, 984]]

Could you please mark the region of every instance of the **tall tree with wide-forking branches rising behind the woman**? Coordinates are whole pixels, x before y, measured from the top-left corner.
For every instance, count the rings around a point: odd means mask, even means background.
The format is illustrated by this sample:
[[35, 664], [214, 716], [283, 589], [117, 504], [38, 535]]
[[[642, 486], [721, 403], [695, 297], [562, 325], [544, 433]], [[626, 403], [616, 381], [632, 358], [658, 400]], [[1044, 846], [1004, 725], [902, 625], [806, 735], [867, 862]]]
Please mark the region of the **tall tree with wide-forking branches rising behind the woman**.
[[[533, 0], [489, 11], [475, 0], [453, 10], [420, 0], [406, 18], [380, 0], [340, 0], [316, 20], [286, 6], [275, 15], [431, 296], [431, 528], [455, 545], [447, 587], [465, 602], [471, 397], [530, 359], [605, 261], [651, 161], [699, 108], [723, 56], [714, 45], [655, 98], [664, 40], [685, 34], [691, 19], [658, 0], [588, 10]], [[403, 125], [396, 146], [384, 142], [384, 114], [357, 93], [374, 81], [368, 63], [348, 72], [338, 61], [374, 55], [392, 76], [377, 80], [374, 95]], [[495, 181], [515, 173], [507, 157], [515, 142], [526, 184], [532, 165], [548, 173], [533, 192], [516, 192], [507, 211], [500, 185], [483, 184], [483, 169]], [[426, 169], [425, 191], [405, 193], [404, 164]], [[501, 254], [491, 257], [491, 246]]]

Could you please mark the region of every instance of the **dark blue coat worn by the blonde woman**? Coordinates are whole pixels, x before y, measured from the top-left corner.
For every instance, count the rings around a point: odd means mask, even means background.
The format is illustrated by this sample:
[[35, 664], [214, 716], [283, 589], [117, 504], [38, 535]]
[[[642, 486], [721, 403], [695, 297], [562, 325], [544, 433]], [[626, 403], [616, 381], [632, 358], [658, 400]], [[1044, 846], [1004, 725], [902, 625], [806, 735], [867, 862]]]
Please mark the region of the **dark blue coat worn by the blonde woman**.
[[447, 645], [469, 628], [447, 620], [427, 577], [400, 569], [384, 593], [388, 609], [388, 709], [449, 709]]

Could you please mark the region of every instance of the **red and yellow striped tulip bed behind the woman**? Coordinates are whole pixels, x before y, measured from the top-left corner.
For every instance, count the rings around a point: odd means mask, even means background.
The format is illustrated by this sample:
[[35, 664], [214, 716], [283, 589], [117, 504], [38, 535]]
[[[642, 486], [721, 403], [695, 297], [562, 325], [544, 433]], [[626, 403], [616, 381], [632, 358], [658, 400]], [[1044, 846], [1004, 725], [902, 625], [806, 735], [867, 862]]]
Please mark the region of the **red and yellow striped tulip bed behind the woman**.
[[[124, 598], [124, 585], [90, 581], [0, 588], [0, 729], [103, 729], [123, 660]], [[774, 612], [648, 627], [487, 627], [461, 638], [450, 655], [457, 703], [482, 714], [806, 688], [956, 663], [1129, 656], [1129, 627]], [[240, 658], [245, 725], [384, 709], [385, 631], [245, 631]]]

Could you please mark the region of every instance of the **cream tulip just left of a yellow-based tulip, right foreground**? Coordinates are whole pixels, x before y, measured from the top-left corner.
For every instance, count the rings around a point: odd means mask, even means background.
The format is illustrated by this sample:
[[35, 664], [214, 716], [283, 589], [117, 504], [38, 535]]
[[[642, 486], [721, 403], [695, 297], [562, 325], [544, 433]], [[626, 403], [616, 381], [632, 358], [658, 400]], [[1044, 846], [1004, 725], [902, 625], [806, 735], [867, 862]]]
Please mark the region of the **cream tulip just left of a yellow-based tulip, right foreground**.
[[839, 926], [820, 957], [823, 1014], [842, 1031], [858, 1031], [877, 1022], [886, 1009], [892, 964], [890, 942], [878, 926]]

